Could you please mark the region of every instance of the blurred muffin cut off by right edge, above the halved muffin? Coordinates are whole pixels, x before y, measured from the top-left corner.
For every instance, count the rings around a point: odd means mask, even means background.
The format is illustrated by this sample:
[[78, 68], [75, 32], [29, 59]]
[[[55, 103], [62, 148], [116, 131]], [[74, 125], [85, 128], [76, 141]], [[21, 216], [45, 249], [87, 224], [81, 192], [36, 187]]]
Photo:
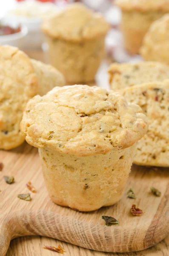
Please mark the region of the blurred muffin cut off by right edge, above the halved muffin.
[[169, 65], [169, 14], [152, 23], [140, 53], [146, 61], [160, 61]]

